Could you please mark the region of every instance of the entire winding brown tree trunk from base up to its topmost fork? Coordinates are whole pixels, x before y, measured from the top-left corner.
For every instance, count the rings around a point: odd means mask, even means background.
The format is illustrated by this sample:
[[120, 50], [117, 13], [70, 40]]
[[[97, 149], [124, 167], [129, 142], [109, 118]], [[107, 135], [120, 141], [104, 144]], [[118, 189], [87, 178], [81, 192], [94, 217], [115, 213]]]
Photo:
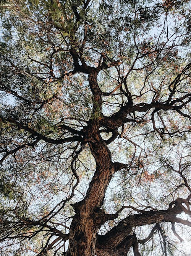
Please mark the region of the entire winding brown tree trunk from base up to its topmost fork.
[[[97, 73], [89, 74], [89, 85], [93, 94], [92, 117], [87, 129], [87, 141], [96, 162], [96, 171], [84, 200], [75, 203], [76, 212], [70, 228], [67, 256], [95, 255], [96, 234], [108, 215], [100, 210], [105, 191], [115, 172], [111, 152], [99, 134], [101, 114], [101, 91], [97, 84]], [[116, 218], [116, 216], [115, 216]]]

